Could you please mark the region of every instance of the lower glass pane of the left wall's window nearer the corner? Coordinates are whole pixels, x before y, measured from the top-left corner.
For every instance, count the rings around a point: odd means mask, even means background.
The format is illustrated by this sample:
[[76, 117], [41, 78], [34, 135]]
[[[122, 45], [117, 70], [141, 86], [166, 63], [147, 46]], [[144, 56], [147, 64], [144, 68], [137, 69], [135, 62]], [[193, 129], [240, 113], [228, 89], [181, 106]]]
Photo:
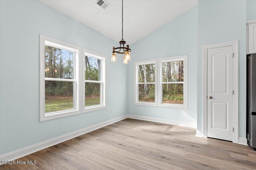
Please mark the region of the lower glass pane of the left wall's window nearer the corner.
[[100, 105], [101, 83], [85, 82], [85, 107]]

